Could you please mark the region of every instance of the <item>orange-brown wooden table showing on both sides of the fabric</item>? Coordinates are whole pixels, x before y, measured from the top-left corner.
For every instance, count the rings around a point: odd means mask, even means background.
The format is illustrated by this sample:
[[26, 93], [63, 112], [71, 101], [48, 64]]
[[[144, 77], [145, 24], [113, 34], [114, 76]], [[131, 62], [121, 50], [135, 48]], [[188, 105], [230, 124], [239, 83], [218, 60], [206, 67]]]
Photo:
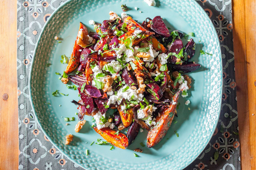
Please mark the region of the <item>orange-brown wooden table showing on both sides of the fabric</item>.
[[[233, 0], [233, 35], [241, 164], [256, 169], [256, 2]], [[1, 0], [0, 169], [18, 169], [17, 2]]]

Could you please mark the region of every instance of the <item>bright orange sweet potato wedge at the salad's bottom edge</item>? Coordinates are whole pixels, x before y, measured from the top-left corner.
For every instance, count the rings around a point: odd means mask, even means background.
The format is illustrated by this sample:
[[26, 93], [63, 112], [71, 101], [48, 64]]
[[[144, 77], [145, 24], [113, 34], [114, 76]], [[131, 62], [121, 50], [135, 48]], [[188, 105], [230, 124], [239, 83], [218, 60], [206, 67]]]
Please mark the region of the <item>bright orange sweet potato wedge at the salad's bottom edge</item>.
[[121, 149], [126, 149], [128, 147], [128, 138], [123, 133], [117, 132], [116, 129], [110, 129], [109, 127], [102, 129], [93, 127], [93, 129], [114, 146]]

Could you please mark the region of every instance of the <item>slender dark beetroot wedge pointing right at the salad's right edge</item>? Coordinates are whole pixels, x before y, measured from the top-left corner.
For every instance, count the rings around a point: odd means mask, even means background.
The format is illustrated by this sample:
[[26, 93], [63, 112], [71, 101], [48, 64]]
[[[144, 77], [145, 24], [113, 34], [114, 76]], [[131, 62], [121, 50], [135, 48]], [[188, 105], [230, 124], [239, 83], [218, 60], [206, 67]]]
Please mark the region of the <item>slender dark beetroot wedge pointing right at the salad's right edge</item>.
[[187, 62], [183, 63], [182, 65], [172, 65], [173, 71], [179, 71], [181, 73], [189, 73], [192, 71], [195, 71], [201, 67], [200, 64], [197, 64], [195, 62]]

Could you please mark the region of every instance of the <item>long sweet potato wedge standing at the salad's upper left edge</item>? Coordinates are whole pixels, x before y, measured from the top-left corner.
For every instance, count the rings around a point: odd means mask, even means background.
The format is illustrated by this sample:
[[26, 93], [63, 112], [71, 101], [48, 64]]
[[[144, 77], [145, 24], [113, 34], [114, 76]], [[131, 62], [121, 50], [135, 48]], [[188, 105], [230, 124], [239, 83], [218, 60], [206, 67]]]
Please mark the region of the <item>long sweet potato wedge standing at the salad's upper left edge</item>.
[[[82, 30], [81, 30], [82, 29]], [[80, 22], [80, 26], [79, 26], [79, 30], [81, 30], [83, 32], [84, 35], [88, 35], [88, 30], [87, 28]], [[78, 31], [78, 34], [79, 34], [79, 31]], [[71, 73], [72, 71], [76, 70], [76, 68], [78, 67], [78, 64], [79, 64], [79, 61], [80, 61], [80, 55], [82, 53], [82, 49], [83, 47], [79, 46], [77, 44], [78, 42], [78, 35], [77, 34], [77, 37], [76, 37], [76, 41], [75, 41], [75, 45], [74, 45], [74, 48], [73, 48], [73, 51], [72, 51], [72, 54], [71, 54], [71, 57], [68, 61], [68, 66], [65, 70], [65, 73], [66, 74], [69, 74]], [[87, 36], [86, 36], [87, 37]], [[88, 37], [87, 37], [88, 38]], [[80, 50], [80, 51], [79, 51]]]

